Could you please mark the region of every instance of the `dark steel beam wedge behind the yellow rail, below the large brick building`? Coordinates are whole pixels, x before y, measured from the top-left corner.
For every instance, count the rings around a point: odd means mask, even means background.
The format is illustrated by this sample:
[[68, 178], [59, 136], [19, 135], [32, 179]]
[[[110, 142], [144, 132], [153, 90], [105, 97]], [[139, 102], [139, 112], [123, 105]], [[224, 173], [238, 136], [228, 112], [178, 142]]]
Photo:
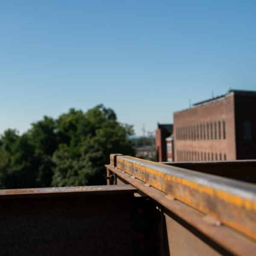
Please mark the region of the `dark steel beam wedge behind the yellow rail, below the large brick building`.
[[176, 166], [197, 172], [256, 183], [256, 160], [162, 163], [169, 166]]

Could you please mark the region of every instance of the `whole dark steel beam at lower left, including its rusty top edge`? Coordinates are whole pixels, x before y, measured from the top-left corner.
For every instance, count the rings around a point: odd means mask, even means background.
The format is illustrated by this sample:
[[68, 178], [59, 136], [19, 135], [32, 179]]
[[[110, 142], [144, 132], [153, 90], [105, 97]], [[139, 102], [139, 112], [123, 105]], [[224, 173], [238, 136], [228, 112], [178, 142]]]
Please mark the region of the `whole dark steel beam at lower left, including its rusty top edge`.
[[59, 190], [5, 190], [12, 197], [0, 200], [1, 256], [158, 255], [154, 204], [134, 197], [133, 186]]

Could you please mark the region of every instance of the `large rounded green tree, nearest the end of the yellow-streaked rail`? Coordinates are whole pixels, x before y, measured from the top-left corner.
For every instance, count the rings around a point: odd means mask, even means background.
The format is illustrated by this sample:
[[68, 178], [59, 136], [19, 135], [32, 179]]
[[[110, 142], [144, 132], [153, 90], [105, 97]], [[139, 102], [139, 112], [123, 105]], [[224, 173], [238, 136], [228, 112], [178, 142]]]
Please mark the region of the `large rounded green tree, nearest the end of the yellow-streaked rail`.
[[57, 122], [58, 134], [64, 135], [66, 143], [53, 157], [53, 186], [104, 184], [109, 155], [134, 154], [127, 139], [133, 134], [132, 126], [117, 122], [114, 111], [103, 105], [86, 113], [71, 109]]

